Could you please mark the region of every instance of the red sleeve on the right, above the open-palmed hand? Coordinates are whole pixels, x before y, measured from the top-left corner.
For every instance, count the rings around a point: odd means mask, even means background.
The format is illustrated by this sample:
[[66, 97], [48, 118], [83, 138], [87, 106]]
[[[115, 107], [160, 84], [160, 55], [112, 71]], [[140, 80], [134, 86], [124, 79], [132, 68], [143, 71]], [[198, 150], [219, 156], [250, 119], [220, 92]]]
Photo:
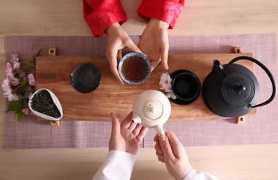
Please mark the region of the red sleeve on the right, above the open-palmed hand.
[[165, 21], [170, 25], [169, 28], [173, 28], [183, 7], [184, 0], [143, 0], [137, 13]]

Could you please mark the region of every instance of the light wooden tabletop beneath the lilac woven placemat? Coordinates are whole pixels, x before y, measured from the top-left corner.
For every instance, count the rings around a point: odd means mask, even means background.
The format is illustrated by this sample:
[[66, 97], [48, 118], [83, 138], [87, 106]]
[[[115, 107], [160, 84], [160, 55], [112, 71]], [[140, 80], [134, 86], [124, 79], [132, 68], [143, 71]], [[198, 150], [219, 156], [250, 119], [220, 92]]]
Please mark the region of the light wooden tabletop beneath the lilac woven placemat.
[[[146, 26], [135, 13], [140, 0], [122, 0], [129, 17], [123, 28], [140, 35]], [[278, 33], [278, 1], [186, 0], [169, 35]], [[4, 78], [3, 35], [92, 35], [82, 1], [0, 1], [0, 79]], [[5, 114], [0, 96], [0, 179], [91, 179], [107, 148], [3, 150]], [[278, 145], [186, 147], [194, 168], [219, 179], [278, 179]], [[171, 179], [153, 149], [139, 150], [132, 179]]]

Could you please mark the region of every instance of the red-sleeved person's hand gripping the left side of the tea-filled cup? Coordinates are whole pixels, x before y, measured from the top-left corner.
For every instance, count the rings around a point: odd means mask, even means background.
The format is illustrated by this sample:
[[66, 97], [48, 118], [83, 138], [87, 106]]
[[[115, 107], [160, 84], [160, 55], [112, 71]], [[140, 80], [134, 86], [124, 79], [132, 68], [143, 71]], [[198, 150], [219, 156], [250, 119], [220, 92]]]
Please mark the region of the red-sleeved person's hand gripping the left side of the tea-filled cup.
[[107, 60], [110, 64], [110, 70], [112, 71], [113, 75], [121, 84], [123, 80], [119, 75], [117, 66], [119, 60], [122, 57], [122, 49], [127, 47], [132, 52], [139, 52], [139, 48], [132, 42], [132, 39], [128, 36], [128, 34], [121, 28], [119, 22], [112, 24], [109, 28], [107, 28], [107, 35], [108, 35], [108, 42], [106, 47], [105, 55]]

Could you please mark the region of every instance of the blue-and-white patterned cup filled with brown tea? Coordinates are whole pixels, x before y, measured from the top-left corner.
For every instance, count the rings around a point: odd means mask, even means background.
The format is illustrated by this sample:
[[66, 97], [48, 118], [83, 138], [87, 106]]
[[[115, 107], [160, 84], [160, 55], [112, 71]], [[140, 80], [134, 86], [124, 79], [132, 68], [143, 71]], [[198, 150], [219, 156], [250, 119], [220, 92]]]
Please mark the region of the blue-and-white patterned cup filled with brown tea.
[[146, 55], [132, 52], [121, 58], [118, 71], [121, 79], [131, 85], [139, 85], [150, 77], [151, 66]]

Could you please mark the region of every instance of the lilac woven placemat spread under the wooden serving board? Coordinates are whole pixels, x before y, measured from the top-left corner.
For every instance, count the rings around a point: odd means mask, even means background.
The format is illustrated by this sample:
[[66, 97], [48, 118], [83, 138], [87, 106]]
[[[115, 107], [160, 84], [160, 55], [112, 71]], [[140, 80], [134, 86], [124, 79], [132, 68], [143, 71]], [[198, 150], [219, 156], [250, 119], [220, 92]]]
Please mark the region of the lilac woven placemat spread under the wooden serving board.
[[[277, 77], [277, 40], [275, 34], [222, 35], [169, 37], [170, 54], [232, 53], [232, 47], [241, 46], [246, 53], [263, 62]], [[139, 37], [132, 36], [135, 44]], [[106, 38], [94, 37], [37, 37], [6, 36], [6, 60], [17, 53], [28, 59], [43, 48], [46, 56], [49, 47], [58, 48], [58, 55], [105, 55]], [[186, 67], [181, 67], [186, 69]], [[261, 85], [261, 100], [270, 96], [270, 82], [256, 67]], [[247, 118], [244, 125], [236, 125], [233, 119], [210, 120], [199, 123], [166, 123], [165, 129], [175, 132], [180, 141], [189, 145], [242, 145], [278, 143], [277, 98], [270, 105], [258, 109], [258, 114]], [[277, 108], [276, 108], [277, 109]], [[130, 109], [131, 110], [131, 109]], [[110, 119], [107, 114], [107, 119]], [[62, 147], [107, 147], [111, 123], [98, 121], [62, 121], [60, 127], [51, 127], [49, 121], [37, 121], [26, 116], [17, 123], [13, 113], [6, 114], [6, 149], [36, 149]], [[155, 132], [150, 129], [144, 139], [144, 147], [153, 147]]]

